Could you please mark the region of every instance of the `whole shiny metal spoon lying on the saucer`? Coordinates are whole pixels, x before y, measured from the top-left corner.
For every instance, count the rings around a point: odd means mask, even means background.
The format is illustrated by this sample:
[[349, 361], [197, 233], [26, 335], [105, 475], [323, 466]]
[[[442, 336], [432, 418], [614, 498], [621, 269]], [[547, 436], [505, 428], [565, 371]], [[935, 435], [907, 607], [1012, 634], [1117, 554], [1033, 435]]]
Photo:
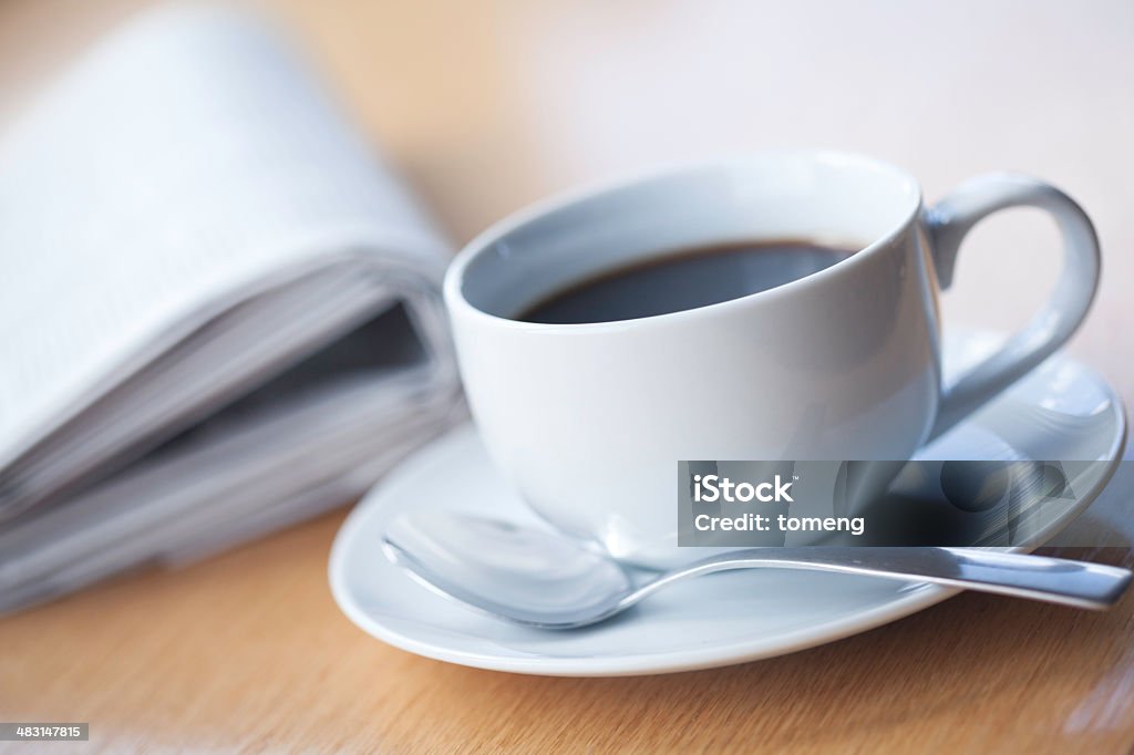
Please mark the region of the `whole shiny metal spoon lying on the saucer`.
[[598, 549], [545, 529], [460, 512], [403, 515], [383, 550], [425, 586], [493, 617], [543, 629], [609, 619], [687, 577], [728, 569], [843, 571], [1088, 609], [1114, 604], [1127, 569], [963, 548], [762, 548], [713, 555], [635, 585]]

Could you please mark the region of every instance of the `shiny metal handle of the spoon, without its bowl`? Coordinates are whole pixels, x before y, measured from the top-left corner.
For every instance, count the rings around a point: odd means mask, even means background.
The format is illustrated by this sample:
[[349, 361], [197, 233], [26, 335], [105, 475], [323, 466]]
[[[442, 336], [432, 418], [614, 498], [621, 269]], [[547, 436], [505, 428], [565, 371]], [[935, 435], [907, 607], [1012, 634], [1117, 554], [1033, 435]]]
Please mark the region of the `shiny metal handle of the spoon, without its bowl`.
[[[1134, 572], [1119, 567], [974, 548], [761, 548], [722, 553], [694, 565], [687, 576], [747, 568], [841, 571], [928, 582], [1086, 609], [1112, 605]], [[652, 593], [671, 582], [662, 577]], [[644, 597], [638, 595], [635, 597]]]

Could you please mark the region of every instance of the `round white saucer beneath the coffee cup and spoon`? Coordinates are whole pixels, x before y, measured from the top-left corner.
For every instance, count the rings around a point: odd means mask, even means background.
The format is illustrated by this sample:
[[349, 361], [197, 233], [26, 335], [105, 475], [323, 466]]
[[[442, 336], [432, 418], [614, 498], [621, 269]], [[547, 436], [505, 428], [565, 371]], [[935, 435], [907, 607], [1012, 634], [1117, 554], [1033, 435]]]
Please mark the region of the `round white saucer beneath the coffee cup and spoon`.
[[[992, 336], [950, 341], [956, 373], [996, 348]], [[1125, 417], [1094, 371], [1056, 356], [922, 450], [930, 459], [1107, 460], [1073, 481], [1078, 500], [1025, 548], [1046, 542], [1085, 508], [1122, 456]], [[956, 591], [848, 575], [735, 571], [675, 585], [612, 621], [573, 631], [528, 629], [448, 601], [386, 560], [386, 521], [438, 507], [536, 521], [500, 480], [471, 426], [423, 449], [355, 508], [330, 561], [335, 599], [369, 634], [463, 665], [556, 676], [665, 673], [742, 663], [828, 643], [894, 621]]]

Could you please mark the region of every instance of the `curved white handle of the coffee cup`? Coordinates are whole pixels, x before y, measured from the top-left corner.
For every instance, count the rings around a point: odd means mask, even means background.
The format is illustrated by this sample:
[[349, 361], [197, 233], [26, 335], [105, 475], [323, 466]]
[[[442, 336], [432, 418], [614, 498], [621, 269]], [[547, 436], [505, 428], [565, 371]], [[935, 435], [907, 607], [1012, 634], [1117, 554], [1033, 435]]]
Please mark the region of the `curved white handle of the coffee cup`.
[[1083, 322], [1094, 298], [1100, 258], [1099, 239], [1091, 219], [1056, 187], [1012, 173], [972, 178], [925, 212], [925, 229], [941, 288], [953, 283], [957, 251], [970, 229], [998, 210], [1023, 206], [1046, 210], [1059, 226], [1064, 264], [1055, 294], [995, 356], [951, 387], [942, 387], [929, 440], [949, 430], [1051, 356]]

